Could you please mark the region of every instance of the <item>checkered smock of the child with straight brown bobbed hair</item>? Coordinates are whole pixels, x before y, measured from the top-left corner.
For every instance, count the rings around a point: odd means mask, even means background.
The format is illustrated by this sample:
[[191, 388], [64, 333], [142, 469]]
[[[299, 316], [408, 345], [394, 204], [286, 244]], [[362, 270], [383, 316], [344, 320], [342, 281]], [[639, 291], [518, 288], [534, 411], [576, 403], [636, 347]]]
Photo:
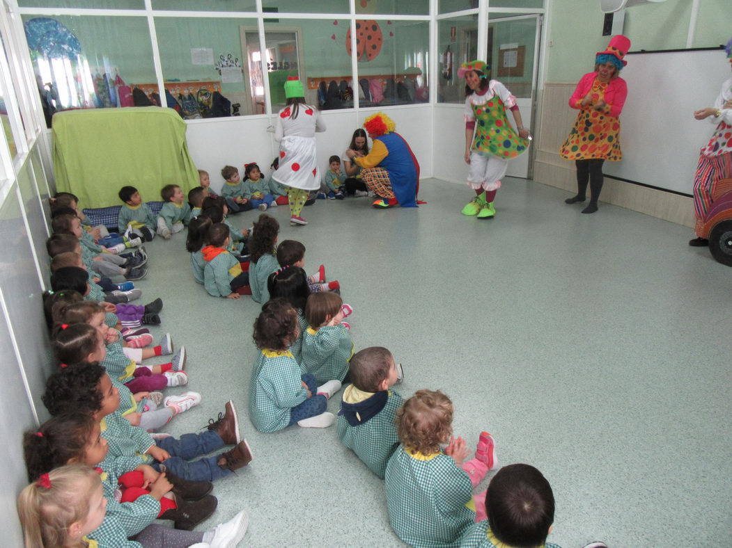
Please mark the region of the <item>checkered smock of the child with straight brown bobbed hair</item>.
[[302, 333], [300, 363], [305, 373], [314, 376], [318, 384], [333, 378], [343, 381], [353, 355], [354, 343], [343, 325], [326, 325], [318, 330], [307, 327]]

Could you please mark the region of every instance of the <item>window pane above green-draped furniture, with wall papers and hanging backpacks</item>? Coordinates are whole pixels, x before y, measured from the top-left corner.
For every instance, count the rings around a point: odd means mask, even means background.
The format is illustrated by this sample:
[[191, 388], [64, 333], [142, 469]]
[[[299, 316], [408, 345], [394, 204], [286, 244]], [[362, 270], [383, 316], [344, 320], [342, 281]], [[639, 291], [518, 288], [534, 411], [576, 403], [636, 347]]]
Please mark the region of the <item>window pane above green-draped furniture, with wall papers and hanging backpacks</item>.
[[184, 118], [264, 113], [252, 102], [242, 26], [255, 27], [256, 20], [155, 18], [166, 97]]

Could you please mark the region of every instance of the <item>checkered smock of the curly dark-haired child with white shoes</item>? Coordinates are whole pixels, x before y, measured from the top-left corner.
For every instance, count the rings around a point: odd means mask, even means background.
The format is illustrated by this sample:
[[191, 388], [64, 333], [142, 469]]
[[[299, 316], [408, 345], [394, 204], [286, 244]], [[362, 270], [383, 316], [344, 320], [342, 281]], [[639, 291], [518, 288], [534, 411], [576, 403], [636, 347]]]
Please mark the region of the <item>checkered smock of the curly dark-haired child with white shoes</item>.
[[260, 432], [290, 424], [290, 409], [307, 400], [300, 366], [290, 351], [262, 350], [252, 369], [249, 416]]

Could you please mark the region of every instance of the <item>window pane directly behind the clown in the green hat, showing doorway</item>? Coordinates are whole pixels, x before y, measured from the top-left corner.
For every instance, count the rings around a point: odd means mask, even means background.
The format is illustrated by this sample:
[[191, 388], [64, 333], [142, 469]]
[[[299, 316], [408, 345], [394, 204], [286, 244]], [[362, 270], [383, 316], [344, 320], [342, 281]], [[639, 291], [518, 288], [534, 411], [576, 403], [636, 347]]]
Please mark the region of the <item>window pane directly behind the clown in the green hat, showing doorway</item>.
[[[351, 27], [347, 20], [280, 19], [266, 23], [264, 56], [272, 110], [285, 105], [285, 80], [299, 77], [305, 99], [315, 107], [329, 110], [351, 108]], [[256, 29], [247, 31], [249, 56], [259, 53]], [[264, 99], [264, 91], [262, 98]]]

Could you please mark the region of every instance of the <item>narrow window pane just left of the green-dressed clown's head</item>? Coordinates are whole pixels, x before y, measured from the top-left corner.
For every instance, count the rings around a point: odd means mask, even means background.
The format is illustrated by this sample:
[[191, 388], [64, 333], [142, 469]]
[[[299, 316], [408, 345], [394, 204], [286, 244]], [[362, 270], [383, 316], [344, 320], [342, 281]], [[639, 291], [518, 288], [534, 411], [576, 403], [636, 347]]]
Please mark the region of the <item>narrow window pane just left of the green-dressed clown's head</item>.
[[465, 80], [458, 77], [461, 63], [474, 61], [478, 56], [477, 15], [442, 19], [438, 21], [438, 76], [437, 101], [465, 102]]

